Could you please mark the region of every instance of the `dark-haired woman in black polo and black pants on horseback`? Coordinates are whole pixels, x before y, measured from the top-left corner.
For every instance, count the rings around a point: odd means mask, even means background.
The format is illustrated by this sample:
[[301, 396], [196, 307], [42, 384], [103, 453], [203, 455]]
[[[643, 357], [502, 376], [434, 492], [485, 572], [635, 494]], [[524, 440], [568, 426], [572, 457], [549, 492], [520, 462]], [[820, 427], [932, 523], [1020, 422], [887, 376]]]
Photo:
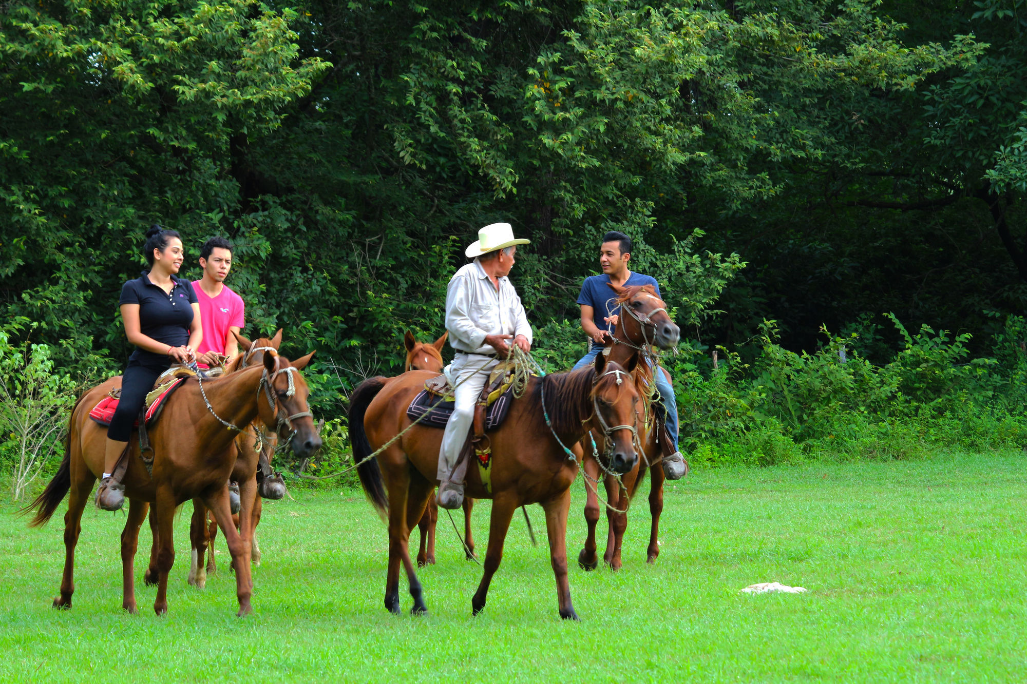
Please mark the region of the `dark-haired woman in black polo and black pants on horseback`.
[[97, 505], [104, 510], [117, 510], [124, 503], [124, 486], [111, 472], [128, 446], [147, 392], [173, 363], [194, 360], [193, 349], [203, 338], [196, 293], [189, 280], [176, 275], [185, 256], [182, 238], [174, 230], [153, 226], [146, 231], [143, 254], [149, 272], [121, 288], [121, 318], [136, 351], [128, 357], [121, 398], [107, 429], [104, 477], [97, 490]]

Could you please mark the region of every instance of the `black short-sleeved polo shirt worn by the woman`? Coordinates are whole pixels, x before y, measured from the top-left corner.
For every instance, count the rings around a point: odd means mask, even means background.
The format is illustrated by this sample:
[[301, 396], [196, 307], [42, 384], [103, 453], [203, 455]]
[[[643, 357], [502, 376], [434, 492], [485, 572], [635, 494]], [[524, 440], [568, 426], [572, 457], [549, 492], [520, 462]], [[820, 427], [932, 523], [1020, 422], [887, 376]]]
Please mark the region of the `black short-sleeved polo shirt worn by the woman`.
[[[177, 275], [172, 276], [170, 294], [150, 281], [149, 272], [129, 280], [121, 288], [122, 304], [139, 304], [140, 332], [169, 347], [181, 347], [189, 343], [189, 326], [192, 325], [192, 305], [196, 303], [196, 293], [192, 283]], [[129, 356], [144, 365], [167, 364], [166, 353], [157, 354], [140, 349]]]

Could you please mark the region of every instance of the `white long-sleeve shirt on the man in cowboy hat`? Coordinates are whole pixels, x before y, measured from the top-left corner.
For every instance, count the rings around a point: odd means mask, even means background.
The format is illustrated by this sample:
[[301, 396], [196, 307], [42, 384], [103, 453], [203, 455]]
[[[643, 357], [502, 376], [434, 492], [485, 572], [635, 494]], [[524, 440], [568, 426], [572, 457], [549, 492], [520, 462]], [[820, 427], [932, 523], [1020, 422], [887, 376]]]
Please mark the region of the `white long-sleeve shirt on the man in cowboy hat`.
[[524, 335], [532, 341], [531, 326], [509, 278], [499, 278], [496, 291], [476, 259], [458, 270], [446, 288], [446, 330], [450, 346], [458, 351], [492, 354], [487, 335]]

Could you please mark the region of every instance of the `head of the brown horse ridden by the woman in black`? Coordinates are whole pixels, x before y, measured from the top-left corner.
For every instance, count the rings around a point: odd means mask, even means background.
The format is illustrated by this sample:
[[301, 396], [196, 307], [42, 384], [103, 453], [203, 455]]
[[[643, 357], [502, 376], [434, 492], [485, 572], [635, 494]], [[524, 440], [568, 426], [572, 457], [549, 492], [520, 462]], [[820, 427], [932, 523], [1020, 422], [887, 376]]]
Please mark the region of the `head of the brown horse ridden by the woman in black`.
[[258, 391], [259, 418], [265, 425], [274, 425], [279, 434], [290, 434], [293, 453], [301, 458], [312, 456], [321, 446], [307, 405], [310, 388], [300, 373], [313, 355], [311, 351], [290, 362], [277, 350], [267, 348], [263, 350], [260, 362], [264, 366], [264, 375]]

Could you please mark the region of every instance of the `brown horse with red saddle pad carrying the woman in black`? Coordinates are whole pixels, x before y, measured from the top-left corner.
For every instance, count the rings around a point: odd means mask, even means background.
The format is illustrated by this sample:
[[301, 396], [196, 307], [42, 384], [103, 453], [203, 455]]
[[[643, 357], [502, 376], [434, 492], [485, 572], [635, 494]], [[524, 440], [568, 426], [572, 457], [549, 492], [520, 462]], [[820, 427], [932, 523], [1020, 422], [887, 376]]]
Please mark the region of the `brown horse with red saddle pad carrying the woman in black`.
[[[127, 459], [127, 467], [121, 478], [128, 498], [128, 516], [121, 533], [122, 608], [131, 613], [138, 611], [132, 561], [139, 528], [152, 503], [157, 512], [160, 541], [157, 598], [153, 608], [158, 615], [167, 612], [167, 574], [175, 562], [175, 509], [184, 501], [201, 497], [225, 529], [235, 567], [238, 614], [253, 612], [250, 603], [253, 594], [250, 548], [231, 527], [228, 505], [228, 476], [236, 461], [232, 442], [238, 430], [225, 426], [222, 421], [237, 426], [260, 417], [270, 423], [275, 419], [276, 410], [283, 409], [289, 413], [305, 411], [308, 392], [298, 371], [309, 359], [309, 355], [304, 356], [294, 366], [289, 366], [288, 359], [268, 354], [261, 366], [223, 378], [205, 380], [202, 384], [196, 379], [188, 379], [167, 401], [160, 420], [150, 429], [154, 452], [152, 472], [147, 471], [139, 456], [138, 440], [129, 441], [126, 454], [122, 457]], [[53, 516], [65, 495], [71, 492], [65, 515], [66, 555], [61, 596], [53, 600], [58, 608], [71, 607], [75, 592], [75, 545], [81, 533], [82, 511], [104, 466], [106, 430], [89, 419], [89, 410], [118, 382], [120, 378], [112, 378], [78, 398], [69, 420], [65, 457], [58, 473], [27, 509], [36, 509], [31, 526], [43, 525]], [[301, 444], [310, 450], [319, 446], [313, 421], [306, 419], [298, 421], [298, 424], [302, 433]], [[249, 509], [243, 509], [243, 519], [249, 512]]]

